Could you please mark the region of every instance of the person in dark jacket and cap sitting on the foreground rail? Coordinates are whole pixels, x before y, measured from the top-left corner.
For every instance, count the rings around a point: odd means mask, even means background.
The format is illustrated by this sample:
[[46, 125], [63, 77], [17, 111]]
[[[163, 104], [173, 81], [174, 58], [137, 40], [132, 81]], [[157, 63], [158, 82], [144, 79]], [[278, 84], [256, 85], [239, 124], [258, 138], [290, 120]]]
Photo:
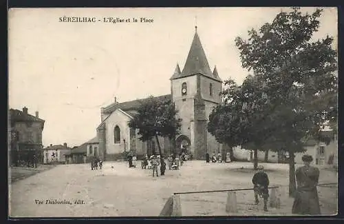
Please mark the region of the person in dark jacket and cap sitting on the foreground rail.
[[268, 211], [268, 197], [269, 197], [269, 177], [266, 172], [264, 172], [264, 166], [259, 165], [258, 171], [252, 178], [252, 183], [254, 185], [253, 190], [255, 192], [255, 203], [258, 205], [258, 195], [264, 198], [264, 211]]

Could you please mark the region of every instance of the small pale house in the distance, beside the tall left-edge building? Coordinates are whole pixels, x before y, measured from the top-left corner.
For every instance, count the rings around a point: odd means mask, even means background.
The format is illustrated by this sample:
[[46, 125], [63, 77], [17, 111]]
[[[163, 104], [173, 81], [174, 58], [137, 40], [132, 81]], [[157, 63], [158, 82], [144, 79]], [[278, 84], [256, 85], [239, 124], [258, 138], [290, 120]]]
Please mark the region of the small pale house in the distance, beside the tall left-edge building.
[[66, 163], [66, 155], [69, 155], [71, 150], [67, 143], [63, 143], [63, 145], [50, 144], [43, 149], [43, 163]]

